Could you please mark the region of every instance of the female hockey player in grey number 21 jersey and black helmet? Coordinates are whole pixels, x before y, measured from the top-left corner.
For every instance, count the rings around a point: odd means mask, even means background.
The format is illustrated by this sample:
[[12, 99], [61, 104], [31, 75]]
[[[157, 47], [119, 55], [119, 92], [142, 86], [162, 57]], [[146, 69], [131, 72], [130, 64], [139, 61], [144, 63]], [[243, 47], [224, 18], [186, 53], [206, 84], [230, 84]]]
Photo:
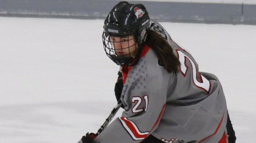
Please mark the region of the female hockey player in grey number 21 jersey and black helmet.
[[121, 67], [115, 93], [125, 111], [80, 142], [235, 142], [217, 77], [199, 72], [143, 5], [118, 3], [104, 22], [103, 45]]

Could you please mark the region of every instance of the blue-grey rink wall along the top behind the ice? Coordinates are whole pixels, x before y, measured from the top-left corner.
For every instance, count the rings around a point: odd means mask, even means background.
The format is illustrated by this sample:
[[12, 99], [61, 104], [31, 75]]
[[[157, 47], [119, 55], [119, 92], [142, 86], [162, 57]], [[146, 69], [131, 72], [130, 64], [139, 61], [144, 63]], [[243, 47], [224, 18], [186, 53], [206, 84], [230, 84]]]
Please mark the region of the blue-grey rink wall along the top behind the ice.
[[[256, 5], [149, 2], [142, 3], [153, 19], [169, 22], [256, 25]], [[104, 19], [118, 1], [111, 0], [0, 0], [0, 16]]]

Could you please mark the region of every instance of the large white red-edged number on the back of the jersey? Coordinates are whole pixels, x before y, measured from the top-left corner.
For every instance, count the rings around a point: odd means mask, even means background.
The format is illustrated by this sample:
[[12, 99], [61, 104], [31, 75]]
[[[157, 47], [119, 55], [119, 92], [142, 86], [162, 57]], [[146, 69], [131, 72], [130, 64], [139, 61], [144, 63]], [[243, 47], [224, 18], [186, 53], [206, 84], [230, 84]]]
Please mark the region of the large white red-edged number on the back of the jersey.
[[[186, 66], [186, 61], [188, 60], [191, 63], [193, 82], [194, 82], [195, 86], [197, 86], [198, 88], [203, 89], [207, 93], [209, 93], [210, 82], [197, 71], [194, 61], [190, 57], [185, 55], [181, 50], [177, 50], [177, 54], [178, 54], [179, 60], [181, 62], [182, 74], [184, 76], [186, 76], [186, 72], [187, 72], [187, 68], [188, 68], [188, 66]], [[200, 82], [197, 80], [197, 75], [201, 76], [202, 80]]]

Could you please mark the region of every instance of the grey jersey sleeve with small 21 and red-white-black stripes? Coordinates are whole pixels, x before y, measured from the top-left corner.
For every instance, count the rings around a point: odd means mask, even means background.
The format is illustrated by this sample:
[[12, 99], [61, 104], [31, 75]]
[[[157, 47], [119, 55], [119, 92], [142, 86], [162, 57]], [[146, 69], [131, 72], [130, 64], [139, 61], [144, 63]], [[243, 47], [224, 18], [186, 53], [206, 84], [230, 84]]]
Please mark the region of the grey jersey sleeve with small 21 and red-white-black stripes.
[[158, 127], [166, 105], [169, 78], [164, 77], [165, 72], [158, 60], [141, 59], [124, 80], [120, 98], [125, 111], [95, 141], [141, 142], [149, 136]]

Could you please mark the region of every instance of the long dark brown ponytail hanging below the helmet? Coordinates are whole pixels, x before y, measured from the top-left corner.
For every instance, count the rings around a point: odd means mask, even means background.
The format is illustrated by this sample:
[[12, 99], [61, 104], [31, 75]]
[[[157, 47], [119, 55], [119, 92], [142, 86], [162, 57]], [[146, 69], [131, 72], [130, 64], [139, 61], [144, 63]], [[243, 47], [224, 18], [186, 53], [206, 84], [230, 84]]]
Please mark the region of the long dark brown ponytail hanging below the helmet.
[[169, 73], [179, 72], [179, 59], [174, 55], [171, 45], [164, 38], [153, 30], [148, 31], [146, 44], [157, 55], [160, 63]]

